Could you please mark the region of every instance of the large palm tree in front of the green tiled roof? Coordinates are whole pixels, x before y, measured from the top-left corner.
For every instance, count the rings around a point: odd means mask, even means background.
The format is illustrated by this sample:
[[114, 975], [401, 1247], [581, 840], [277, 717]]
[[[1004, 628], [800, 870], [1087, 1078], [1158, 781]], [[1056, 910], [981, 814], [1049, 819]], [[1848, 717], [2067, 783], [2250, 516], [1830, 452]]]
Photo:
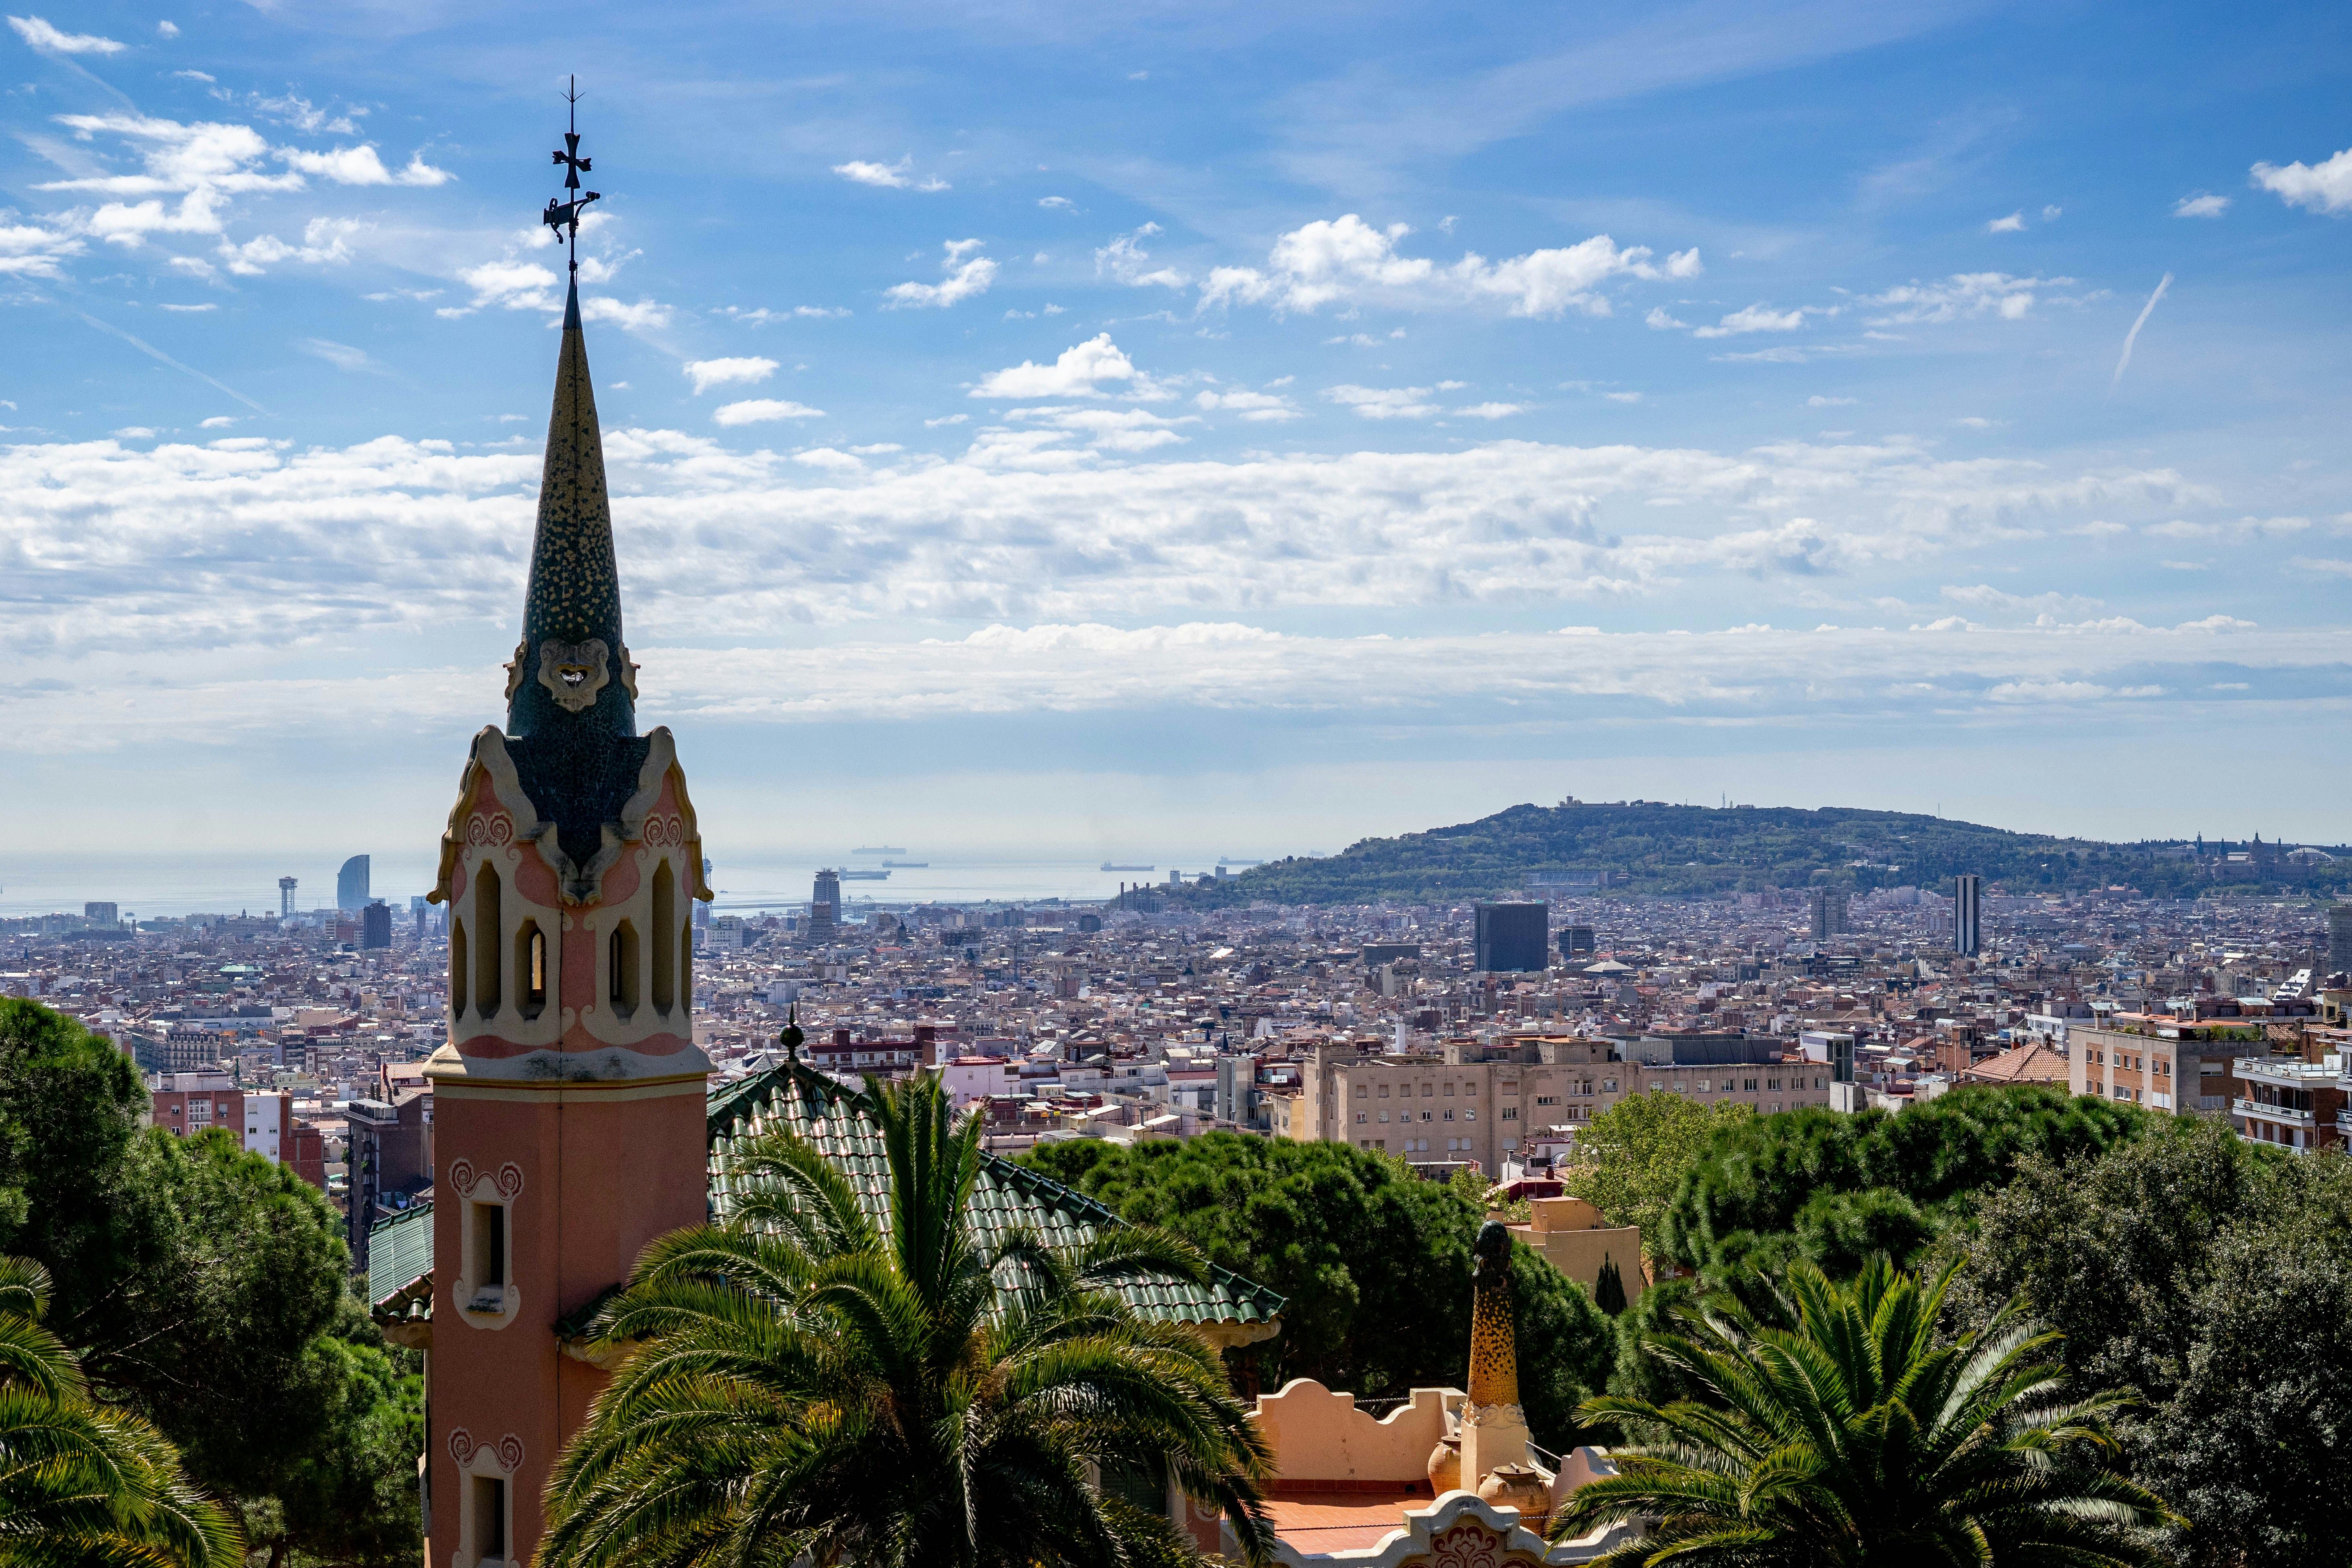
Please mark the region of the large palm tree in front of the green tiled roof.
[[[1105, 1476], [1167, 1474], [1270, 1561], [1268, 1450], [1216, 1354], [1105, 1286], [1204, 1276], [1183, 1241], [974, 1237], [978, 1119], [875, 1088], [889, 1215], [793, 1133], [727, 1225], [654, 1241], [604, 1309], [635, 1349], [548, 1488], [543, 1568], [1054, 1568], [1200, 1561]], [[1164, 1467], [1164, 1469], [1162, 1469]]]

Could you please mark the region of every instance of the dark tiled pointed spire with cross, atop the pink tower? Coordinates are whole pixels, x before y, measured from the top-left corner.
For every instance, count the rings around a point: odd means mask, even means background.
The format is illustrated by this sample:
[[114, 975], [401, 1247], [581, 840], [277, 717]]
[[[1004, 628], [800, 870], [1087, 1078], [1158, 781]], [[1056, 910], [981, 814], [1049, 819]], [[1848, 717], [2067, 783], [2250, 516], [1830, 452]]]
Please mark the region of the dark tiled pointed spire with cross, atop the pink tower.
[[[579, 134], [564, 134], [569, 186], [588, 167]], [[548, 202], [546, 221], [579, 235], [579, 209], [595, 200]], [[604, 435], [595, 418], [581, 287], [574, 266], [564, 296], [564, 336], [555, 355], [555, 407], [539, 475], [539, 531], [532, 583], [522, 599], [522, 642], [506, 672], [506, 729], [513, 736], [557, 731], [637, 733], [637, 668], [621, 639], [621, 571], [612, 550], [612, 503], [604, 494]]]

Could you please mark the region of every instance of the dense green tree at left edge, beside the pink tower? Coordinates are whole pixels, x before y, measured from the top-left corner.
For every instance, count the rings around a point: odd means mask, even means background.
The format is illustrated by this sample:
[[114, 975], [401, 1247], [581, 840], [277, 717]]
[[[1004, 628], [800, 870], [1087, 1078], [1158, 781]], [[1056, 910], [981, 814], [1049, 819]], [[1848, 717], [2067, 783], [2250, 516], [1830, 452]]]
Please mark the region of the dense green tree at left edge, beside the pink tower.
[[421, 1378], [353, 1298], [334, 1208], [226, 1131], [141, 1133], [143, 1107], [120, 1051], [0, 1001], [0, 1234], [54, 1276], [49, 1326], [273, 1563], [412, 1561]]

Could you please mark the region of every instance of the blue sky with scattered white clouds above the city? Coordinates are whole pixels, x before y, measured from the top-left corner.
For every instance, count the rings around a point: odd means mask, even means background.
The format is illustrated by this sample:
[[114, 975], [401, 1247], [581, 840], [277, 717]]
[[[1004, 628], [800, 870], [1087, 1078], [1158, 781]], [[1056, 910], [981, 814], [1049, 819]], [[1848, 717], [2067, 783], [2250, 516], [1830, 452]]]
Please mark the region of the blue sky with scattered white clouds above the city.
[[426, 860], [579, 71], [630, 642], [717, 844], [1566, 792], [2345, 839], [2347, 31], [12, 12], [0, 792], [59, 853]]

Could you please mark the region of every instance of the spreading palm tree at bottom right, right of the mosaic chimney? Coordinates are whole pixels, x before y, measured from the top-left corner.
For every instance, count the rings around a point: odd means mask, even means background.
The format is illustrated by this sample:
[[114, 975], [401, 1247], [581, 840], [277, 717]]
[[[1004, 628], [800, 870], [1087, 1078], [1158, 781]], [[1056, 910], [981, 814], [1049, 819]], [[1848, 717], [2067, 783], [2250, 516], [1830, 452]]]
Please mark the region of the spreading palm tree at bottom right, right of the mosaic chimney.
[[1738, 1312], [1684, 1316], [1656, 1354], [1712, 1399], [1653, 1406], [1588, 1399], [1653, 1441], [1621, 1448], [1552, 1516], [1552, 1540], [1637, 1519], [1646, 1535], [1606, 1568], [2159, 1563], [2183, 1521], [2107, 1467], [2122, 1394], [2067, 1401], [2046, 1352], [2056, 1333], [2016, 1302], [1940, 1345], [1938, 1279], [1872, 1258], [1851, 1286], [1799, 1262], [1780, 1293], [1795, 1328]]

